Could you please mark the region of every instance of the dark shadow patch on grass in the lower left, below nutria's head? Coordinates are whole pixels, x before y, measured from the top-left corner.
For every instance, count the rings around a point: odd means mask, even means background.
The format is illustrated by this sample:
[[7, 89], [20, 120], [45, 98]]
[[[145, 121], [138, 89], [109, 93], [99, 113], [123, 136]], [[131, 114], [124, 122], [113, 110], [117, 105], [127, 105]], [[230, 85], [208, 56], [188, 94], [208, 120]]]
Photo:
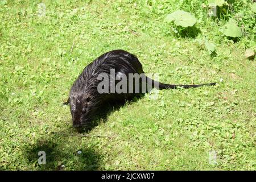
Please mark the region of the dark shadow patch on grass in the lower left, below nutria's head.
[[[58, 135], [61, 135], [61, 138]], [[38, 143], [32, 146], [29, 145], [24, 149], [24, 155], [28, 163], [34, 164], [37, 170], [62, 171], [65, 170], [66, 166], [73, 170], [100, 169], [100, 156], [96, 154], [93, 148], [79, 149], [81, 151], [81, 154], [79, 154], [78, 150], [74, 150], [73, 146], [63, 146], [63, 143], [68, 144], [65, 142], [67, 137], [63, 133], [55, 133], [54, 137], [60, 139], [56, 142], [49, 139], [40, 139]], [[38, 155], [39, 151], [46, 152], [46, 164], [38, 163], [38, 159], [42, 156]]]

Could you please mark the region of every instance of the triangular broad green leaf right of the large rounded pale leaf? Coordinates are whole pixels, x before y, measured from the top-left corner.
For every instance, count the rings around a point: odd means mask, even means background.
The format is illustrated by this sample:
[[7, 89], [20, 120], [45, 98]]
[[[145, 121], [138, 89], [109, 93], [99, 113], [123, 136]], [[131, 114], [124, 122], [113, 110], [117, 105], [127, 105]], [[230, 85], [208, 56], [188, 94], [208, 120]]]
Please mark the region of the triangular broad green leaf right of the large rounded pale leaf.
[[224, 30], [222, 31], [224, 35], [230, 36], [232, 38], [237, 38], [242, 36], [241, 28], [236, 25], [236, 22], [233, 19], [229, 19], [229, 22], [225, 25]]

